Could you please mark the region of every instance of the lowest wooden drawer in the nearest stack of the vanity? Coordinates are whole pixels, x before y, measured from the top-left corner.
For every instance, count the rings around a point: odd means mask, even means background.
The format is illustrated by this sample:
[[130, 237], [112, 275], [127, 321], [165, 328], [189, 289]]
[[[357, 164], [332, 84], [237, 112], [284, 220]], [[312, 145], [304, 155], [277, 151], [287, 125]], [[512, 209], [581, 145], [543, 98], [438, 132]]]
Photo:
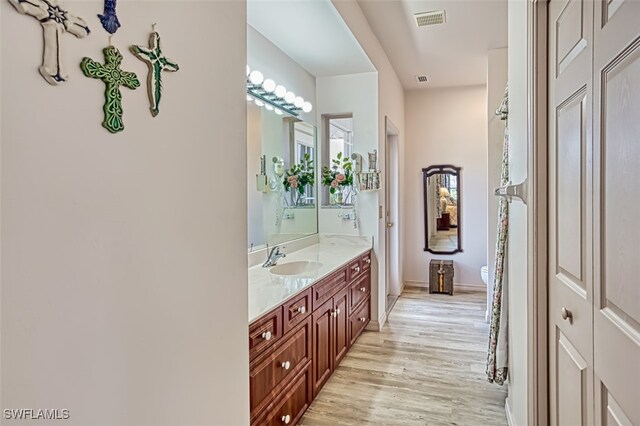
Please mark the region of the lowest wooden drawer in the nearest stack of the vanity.
[[273, 409], [266, 416], [263, 416], [253, 423], [253, 425], [283, 426], [297, 424], [302, 415], [311, 404], [311, 370], [307, 363], [307, 368], [303, 370], [293, 380], [292, 386], [288, 387]]

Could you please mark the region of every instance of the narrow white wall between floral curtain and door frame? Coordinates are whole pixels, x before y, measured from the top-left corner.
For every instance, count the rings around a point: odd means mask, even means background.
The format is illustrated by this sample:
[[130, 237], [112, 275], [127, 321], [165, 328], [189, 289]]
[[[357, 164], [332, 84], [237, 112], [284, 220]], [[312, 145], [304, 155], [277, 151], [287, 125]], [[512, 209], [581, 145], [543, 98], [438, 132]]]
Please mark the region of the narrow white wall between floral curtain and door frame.
[[[529, 140], [527, 84], [527, 29], [530, 2], [509, 2], [509, 167], [513, 183], [527, 176]], [[514, 425], [528, 422], [530, 399], [527, 284], [527, 207], [515, 201], [509, 206], [509, 397], [507, 406]]]

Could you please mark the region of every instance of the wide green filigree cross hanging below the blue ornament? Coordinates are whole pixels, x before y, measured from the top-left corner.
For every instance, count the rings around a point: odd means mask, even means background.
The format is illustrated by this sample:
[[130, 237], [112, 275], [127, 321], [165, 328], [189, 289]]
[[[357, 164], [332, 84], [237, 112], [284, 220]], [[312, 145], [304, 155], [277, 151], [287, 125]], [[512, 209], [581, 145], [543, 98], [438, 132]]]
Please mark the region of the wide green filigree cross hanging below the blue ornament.
[[80, 69], [85, 76], [102, 80], [105, 84], [104, 121], [102, 126], [111, 133], [124, 130], [122, 121], [122, 93], [120, 86], [129, 89], [140, 87], [138, 76], [133, 72], [122, 71], [122, 54], [113, 46], [106, 47], [104, 64], [100, 64], [91, 58], [83, 58]]

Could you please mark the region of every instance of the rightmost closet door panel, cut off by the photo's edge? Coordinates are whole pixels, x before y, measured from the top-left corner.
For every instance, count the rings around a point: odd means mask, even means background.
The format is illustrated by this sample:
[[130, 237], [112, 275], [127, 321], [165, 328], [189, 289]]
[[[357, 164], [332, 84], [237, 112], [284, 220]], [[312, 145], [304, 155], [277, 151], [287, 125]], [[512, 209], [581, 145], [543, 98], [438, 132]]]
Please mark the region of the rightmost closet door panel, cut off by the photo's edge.
[[594, 20], [596, 424], [640, 425], [640, 2]]

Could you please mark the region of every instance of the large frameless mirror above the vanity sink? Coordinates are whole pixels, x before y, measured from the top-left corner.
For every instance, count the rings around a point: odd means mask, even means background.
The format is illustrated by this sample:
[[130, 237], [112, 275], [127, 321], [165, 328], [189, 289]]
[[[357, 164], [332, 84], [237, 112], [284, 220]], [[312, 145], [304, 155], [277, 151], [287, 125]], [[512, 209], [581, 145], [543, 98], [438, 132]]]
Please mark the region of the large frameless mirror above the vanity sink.
[[247, 104], [249, 251], [318, 232], [316, 134], [309, 123]]

